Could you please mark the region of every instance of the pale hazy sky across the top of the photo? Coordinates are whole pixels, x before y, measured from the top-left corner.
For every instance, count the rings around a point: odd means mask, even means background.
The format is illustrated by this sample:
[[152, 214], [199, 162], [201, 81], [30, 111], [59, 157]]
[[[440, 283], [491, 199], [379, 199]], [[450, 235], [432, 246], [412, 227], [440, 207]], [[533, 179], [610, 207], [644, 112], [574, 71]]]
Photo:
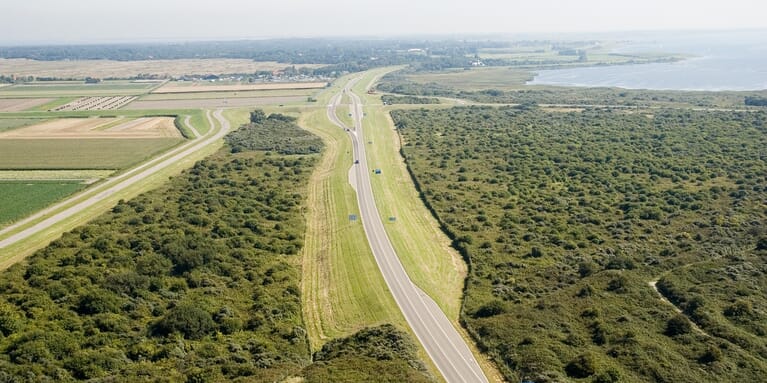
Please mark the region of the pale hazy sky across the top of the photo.
[[765, 0], [9, 0], [0, 44], [767, 28]]

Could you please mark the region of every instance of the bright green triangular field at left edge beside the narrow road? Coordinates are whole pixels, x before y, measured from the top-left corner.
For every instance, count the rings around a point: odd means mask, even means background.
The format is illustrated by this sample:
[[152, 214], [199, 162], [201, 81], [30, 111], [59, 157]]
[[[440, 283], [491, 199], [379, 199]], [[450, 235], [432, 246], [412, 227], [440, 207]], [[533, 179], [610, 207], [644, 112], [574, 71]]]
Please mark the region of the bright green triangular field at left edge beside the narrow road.
[[85, 187], [80, 181], [0, 181], [0, 226]]

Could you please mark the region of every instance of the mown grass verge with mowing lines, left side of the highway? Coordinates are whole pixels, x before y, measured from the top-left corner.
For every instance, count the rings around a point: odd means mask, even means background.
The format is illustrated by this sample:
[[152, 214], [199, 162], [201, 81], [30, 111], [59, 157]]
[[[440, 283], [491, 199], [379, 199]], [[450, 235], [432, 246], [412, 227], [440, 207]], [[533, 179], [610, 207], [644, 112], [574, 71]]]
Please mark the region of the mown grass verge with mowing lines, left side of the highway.
[[373, 258], [348, 182], [351, 141], [332, 125], [324, 108], [299, 124], [320, 136], [326, 148], [309, 186], [302, 297], [313, 350], [329, 339], [366, 326], [393, 323], [407, 328]]

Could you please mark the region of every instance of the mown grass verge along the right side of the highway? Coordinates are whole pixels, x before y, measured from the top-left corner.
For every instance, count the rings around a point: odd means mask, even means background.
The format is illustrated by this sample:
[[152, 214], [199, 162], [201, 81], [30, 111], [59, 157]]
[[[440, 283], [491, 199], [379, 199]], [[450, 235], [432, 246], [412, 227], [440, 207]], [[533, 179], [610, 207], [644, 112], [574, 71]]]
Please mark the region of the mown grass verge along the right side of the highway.
[[376, 205], [410, 278], [448, 318], [457, 321], [466, 264], [420, 200], [399, 155], [399, 136], [388, 111], [381, 106], [380, 96], [366, 94], [370, 81], [383, 72], [370, 72], [354, 88], [365, 105], [362, 121], [368, 166], [382, 170], [382, 174], [371, 177]]

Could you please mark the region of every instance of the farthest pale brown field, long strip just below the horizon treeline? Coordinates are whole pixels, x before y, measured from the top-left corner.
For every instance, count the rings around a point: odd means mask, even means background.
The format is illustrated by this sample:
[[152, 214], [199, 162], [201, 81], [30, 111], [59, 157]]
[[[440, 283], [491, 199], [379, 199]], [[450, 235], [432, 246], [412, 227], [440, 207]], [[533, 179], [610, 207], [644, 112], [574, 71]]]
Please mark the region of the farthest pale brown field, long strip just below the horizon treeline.
[[[146, 61], [35, 61], [0, 59], [3, 74], [57, 78], [128, 78], [147, 73], [158, 76], [204, 75], [209, 73], [255, 73], [274, 71], [290, 66], [277, 62], [256, 62], [246, 59], [187, 59]], [[296, 68], [316, 68], [322, 65], [296, 65]]]

